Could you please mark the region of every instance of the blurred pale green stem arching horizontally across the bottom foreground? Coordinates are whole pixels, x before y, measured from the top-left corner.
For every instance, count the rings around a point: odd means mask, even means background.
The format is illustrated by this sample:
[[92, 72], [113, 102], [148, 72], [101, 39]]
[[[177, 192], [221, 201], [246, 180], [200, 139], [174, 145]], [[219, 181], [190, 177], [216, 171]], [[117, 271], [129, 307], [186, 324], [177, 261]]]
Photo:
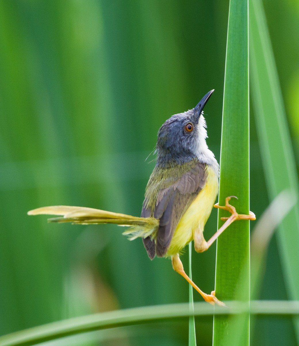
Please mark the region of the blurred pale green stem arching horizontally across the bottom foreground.
[[[252, 301], [247, 303], [228, 301], [229, 308], [215, 307], [206, 302], [194, 303], [195, 316], [229, 316], [247, 312], [254, 315], [298, 316], [299, 301]], [[190, 316], [188, 303], [141, 307], [96, 313], [71, 318], [43, 326], [21, 330], [0, 337], [0, 346], [29, 346], [62, 337], [86, 333], [92, 330], [150, 323], [158, 320]], [[240, 344], [242, 345], [242, 344]]]

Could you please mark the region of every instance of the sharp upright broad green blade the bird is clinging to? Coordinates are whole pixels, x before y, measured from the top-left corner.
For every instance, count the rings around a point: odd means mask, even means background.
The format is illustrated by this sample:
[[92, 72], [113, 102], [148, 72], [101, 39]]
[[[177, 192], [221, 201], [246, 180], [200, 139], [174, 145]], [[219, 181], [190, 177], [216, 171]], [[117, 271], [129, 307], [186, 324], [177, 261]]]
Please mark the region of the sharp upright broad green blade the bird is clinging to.
[[[231, 0], [223, 95], [219, 204], [231, 203], [249, 212], [249, 78], [248, 1]], [[223, 224], [219, 210], [218, 228]], [[241, 284], [240, 284], [241, 283]], [[216, 296], [220, 300], [249, 301], [249, 221], [237, 221], [218, 238]], [[215, 316], [213, 345], [249, 344], [249, 315], [242, 319]], [[236, 330], [238, 335], [236, 335]]]

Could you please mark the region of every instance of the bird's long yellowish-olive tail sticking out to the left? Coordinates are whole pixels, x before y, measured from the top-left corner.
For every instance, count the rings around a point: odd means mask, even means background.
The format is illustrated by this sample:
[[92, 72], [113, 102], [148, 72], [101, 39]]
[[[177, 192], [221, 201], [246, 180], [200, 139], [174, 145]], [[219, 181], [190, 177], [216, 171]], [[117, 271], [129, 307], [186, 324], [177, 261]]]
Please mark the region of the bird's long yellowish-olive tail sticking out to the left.
[[136, 217], [126, 214], [114, 213], [112, 211], [72, 206], [42, 207], [28, 211], [28, 215], [61, 215], [62, 217], [48, 219], [49, 222], [72, 222], [72, 224], [117, 224], [128, 226], [124, 235], [130, 240], [138, 237], [153, 238], [159, 227], [159, 220], [148, 217]]

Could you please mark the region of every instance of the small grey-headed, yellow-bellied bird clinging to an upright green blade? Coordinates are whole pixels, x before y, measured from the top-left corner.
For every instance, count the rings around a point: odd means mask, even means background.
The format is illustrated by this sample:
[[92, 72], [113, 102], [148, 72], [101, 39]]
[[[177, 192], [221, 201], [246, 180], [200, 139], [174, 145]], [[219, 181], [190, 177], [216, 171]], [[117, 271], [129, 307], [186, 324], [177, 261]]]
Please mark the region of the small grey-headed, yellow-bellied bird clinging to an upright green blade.
[[[210, 304], [225, 305], [216, 292], [203, 292], [185, 273], [180, 255], [192, 240], [196, 252], [206, 251], [235, 220], [255, 220], [255, 215], [238, 214], [226, 198], [225, 206], [215, 203], [219, 190], [219, 164], [207, 146], [207, 126], [203, 108], [214, 89], [193, 109], [171, 116], [158, 131], [156, 165], [145, 190], [141, 217], [100, 209], [50, 206], [28, 211], [28, 215], [56, 215], [49, 222], [72, 224], [117, 224], [128, 226], [123, 232], [130, 240], [142, 238], [151, 260], [171, 258], [173, 269], [182, 275]], [[203, 237], [212, 208], [231, 213], [208, 240]]]

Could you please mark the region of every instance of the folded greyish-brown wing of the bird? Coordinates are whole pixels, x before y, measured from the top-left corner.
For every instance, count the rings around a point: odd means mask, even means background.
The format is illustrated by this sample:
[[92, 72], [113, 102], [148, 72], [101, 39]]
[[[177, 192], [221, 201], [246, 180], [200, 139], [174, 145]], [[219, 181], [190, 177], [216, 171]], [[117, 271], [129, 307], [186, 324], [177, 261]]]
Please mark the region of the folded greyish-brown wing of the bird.
[[[190, 171], [177, 177], [170, 186], [161, 189], [157, 194], [153, 211], [148, 205], [147, 199], [144, 201], [141, 216], [153, 216], [159, 219], [159, 228], [155, 239], [150, 237], [143, 239], [143, 244], [151, 259], [155, 257], [155, 254], [158, 257], [163, 257], [167, 253], [180, 218], [206, 184], [205, 167], [205, 164], [196, 162], [192, 168], [190, 167]], [[173, 180], [175, 179], [172, 175], [170, 181]]]

